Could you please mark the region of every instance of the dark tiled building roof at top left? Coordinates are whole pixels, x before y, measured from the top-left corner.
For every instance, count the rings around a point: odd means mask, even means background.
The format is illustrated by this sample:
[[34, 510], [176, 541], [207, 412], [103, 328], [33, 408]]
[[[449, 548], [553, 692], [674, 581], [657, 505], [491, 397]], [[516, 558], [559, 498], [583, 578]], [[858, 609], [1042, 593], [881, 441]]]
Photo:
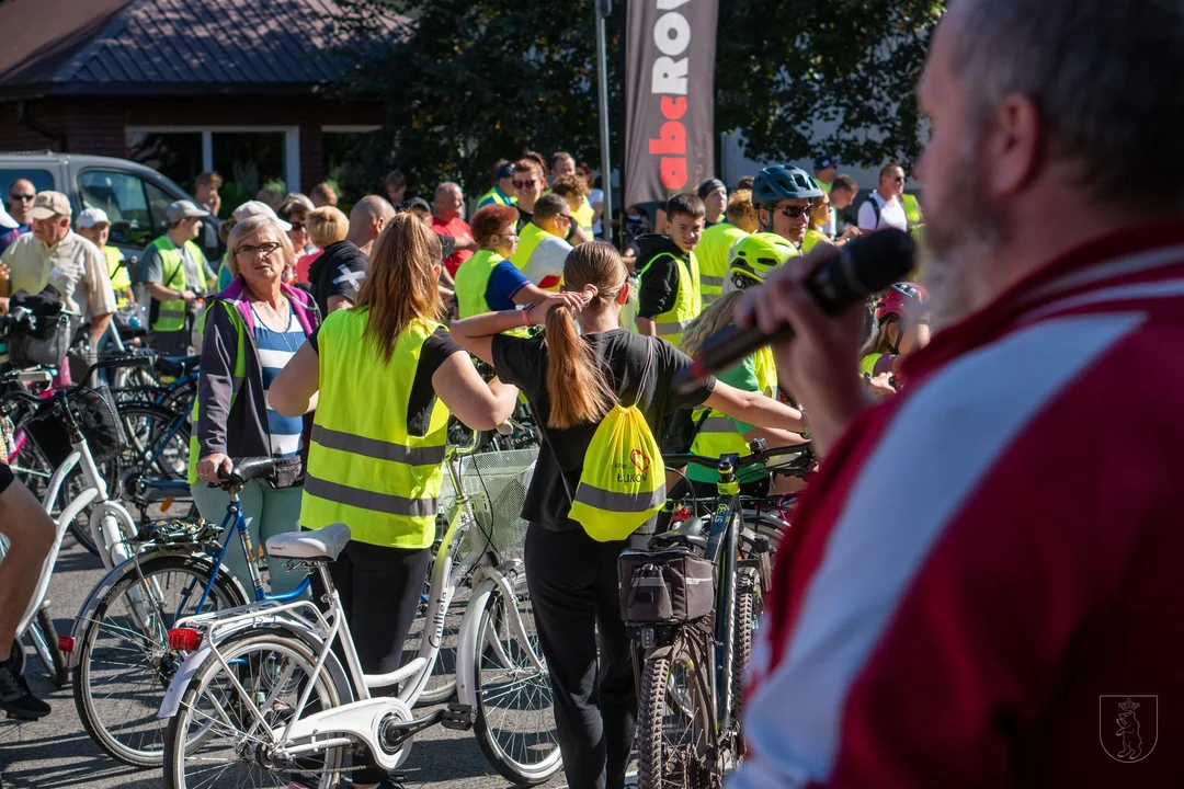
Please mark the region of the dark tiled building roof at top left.
[[8, 0], [0, 96], [308, 92], [406, 30], [343, 19], [335, 0]]

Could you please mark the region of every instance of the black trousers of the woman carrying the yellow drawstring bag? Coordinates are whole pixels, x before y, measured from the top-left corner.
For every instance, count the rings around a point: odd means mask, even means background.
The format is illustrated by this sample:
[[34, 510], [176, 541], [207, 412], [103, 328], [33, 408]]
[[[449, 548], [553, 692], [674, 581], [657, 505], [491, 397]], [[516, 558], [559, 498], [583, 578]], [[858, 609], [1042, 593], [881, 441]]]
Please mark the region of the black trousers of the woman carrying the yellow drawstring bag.
[[625, 785], [637, 727], [630, 640], [617, 591], [617, 556], [628, 547], [538, 524], [526, 536], [526, 580], [571, 789]]

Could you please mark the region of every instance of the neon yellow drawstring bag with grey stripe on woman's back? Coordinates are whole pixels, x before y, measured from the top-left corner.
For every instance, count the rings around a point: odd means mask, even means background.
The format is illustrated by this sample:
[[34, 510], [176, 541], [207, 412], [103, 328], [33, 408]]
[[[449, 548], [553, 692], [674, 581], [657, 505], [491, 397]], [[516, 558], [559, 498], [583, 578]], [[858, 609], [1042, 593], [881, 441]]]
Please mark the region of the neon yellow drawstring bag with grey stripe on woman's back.
[[[645, 390], [652, 362], [650, 337], [638, 396]], [[645, 414], [636, 401], [631, 406], [617, 403], [600, 421], [584, 455], [568, 517], [593, 539], [606, 543], [629, 537], [664, 503], [665, 466]]]

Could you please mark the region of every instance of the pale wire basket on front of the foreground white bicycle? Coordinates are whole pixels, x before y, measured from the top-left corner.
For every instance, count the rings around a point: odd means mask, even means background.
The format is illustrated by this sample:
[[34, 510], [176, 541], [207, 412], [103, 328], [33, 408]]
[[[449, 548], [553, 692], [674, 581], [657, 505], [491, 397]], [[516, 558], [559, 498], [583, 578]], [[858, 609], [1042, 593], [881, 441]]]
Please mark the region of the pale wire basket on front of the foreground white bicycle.
[[[491, 532], [494, 548], [503, 558], [520, 556], [526, 543], [527, 522], [522, 519], [522, 504], [534, 474], [539, 448], [483, 452], [461, 460], [461, 484], [470, 497], [477, 518], [475, 529]], [[444, 476], [440, 490], [440, 510], [448, 512], [456, 503], [452, 479]], [[471, 536], [465, 537], [468, 549]]]

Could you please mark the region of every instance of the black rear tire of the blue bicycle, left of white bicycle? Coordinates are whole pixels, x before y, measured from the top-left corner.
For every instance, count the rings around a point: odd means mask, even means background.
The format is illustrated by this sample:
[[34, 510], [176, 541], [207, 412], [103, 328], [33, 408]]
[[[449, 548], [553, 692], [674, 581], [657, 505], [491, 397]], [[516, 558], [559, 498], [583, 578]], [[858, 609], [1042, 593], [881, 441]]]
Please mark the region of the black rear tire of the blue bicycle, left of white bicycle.
[[[210, 580], [212, 562], [210, 560], [201, 561], [201, 558], [195, 556], [162, 554], [141, 558], [139, 568], [140, 571], [137, 573], [136, 565], [128, 565], [124, 575], [111, 583], [110, 588], [95, 607], [95, 613], [88, 620], [85, 629], [82, 632], [76, 647], [78, 649], [78, 662], [73, 672], [73, 697], [75, 707], [78, 710], [78, 718], [82, 720], [83, 727], [86, 730], [86, 733], [90, 735], [90, 738], [95, 741], [95, 744], [103, 749], [104, 752], [124, 764], [133, 764], [135, 767], [160, 767], [165, 761], [165, 724], [153, 720], [153, 725], [148, 726], [146, 732], [143, 730], [140, 732], [129, 731], [127, 733], [112, 731], [116, 722], [109, 720], [109, 716], [104, 714], [104, 710], [99, 709], [95, 694], [95, 691], [97, 690], [95, 680], [95, 654], [98, 648], [96, 647], [96, 642], [103, 634], [104, 622], [108, 621], [109, 616], [112, 616], [112, 607], [123, 600], [129, 589], [140, 583], [141, 576], [144, 580], [150, 580], [165, 573], [180, 573], [199, 580], [201, 587], [204, 588]], [[214, 590], [212, 595], [215, 596], [215, 604], [219, 607], [232, 608], [246, 604], [245, 594], [227, 575], [227, 573], [225, 573], [225, 570], [218, 574], [218, 578], [214, 581]], [[197, 601], [194, 601], [194, 603], [195, 602]], [[170, 625], [170, 622], [166, 622], [166, 625]], [[126, 629], [123, 626], [118, 626], [114, 621], [108, 627], [112, 630], [117, 627], [120, 629]], [[167, 636], [163, 642], [155, 641], [146, 644], [146, 647], [147, 648], [143, 654], [146, 664], [149, 660], [163, 660], [163, 658], [156, 658], [152, 649], [157, 648], [162, 655], [167, 654]], [[179, 660], [176, 665], [180, 665]], [[160, 701], [165, 696], [165, 690], [168, 687], [168, 683], [165, 681], [166, 675], [160, 673], [160, 668], [156, 668], [156, 672], [160, 674], [160, 681], [148, 685], [149, 688], [156, 690], [156, 693], [141, 691], [135, 698], [135, 701], [143, 704], [144, 710], [148, 712], [152, 712], [160, 706]], [[128, 680], [134, 679], [135, 675], [129, 673]], [[104, 685], [103, 690], [107, 691], [108, 687], [108, 685]], [[107, 699], [115, 696], [117, 691], [117, 686], [111, 688], [110, 692], [103, 698], [103, 701], [105, 703]], [[105, 709], [105, 704], [103, 706]], [[154, 714], [153, 718], [155, 718]], [[133, 735], [136, 733], [140, 735], [139, 743], [137, 745], [133, 745], [130, 741], [133, 739]], [[152, 746], [155, 737], [160, 738], [159, 748]]]

